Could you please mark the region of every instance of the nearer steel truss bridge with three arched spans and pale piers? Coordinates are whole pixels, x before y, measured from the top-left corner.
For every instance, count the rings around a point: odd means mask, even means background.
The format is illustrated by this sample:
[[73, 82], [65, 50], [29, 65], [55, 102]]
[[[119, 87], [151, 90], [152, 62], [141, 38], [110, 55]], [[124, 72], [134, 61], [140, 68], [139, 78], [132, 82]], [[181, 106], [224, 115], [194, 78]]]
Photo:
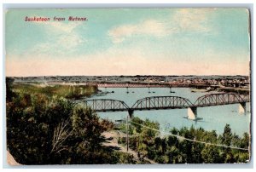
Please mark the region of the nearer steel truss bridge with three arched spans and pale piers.
[[90, 106], [96, 112], [129, 112], [130, 118], [134, 111], [188, 109], [188, 118], [197, 118], [197, 108], [205, 106], [223, 106], [238, 104], [239, 112], [246, 112], [246, 102], [250, 101], [249, 95], [233, 93], [220, 93], [203, 95], [192, 103], [190, 100], [179, 96], [152, 96], [137, 100], [129, 107], [121, 100], [95, 99], [84, 100], [84, 106]]

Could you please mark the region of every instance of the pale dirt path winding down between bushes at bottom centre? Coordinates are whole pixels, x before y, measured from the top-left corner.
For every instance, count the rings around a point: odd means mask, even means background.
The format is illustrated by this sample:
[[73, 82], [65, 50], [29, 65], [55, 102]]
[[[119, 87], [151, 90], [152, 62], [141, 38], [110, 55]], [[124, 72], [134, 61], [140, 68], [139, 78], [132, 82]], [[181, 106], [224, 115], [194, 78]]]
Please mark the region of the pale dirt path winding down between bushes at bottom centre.
[[[105, 136], [106, 139], [109, 138], [113, 138], [112, 140], [108, 140], [108, 142], [103, 143], [103, 146], [113, 146], [113, 147], [117, 147], [119, 152], [127, 152], [127, 148], [125, 146], [119, 145], [118, 143], [118, 138], [119, 137], [125, 137], [126, 135], [122, 132], [119, 131], [107, 131], [102, 133], [103, 136]], [[137, 152], [131, 150], [130, 148], [128, 149], [128, 153], [132, 154], [133, 157], [139, 161], [139, 158], [137, 157]], [[154, 161], [148, 159], [148, 158], [144, 158], [145, 160], [147, 160], [149, 163], [155, 163]]]

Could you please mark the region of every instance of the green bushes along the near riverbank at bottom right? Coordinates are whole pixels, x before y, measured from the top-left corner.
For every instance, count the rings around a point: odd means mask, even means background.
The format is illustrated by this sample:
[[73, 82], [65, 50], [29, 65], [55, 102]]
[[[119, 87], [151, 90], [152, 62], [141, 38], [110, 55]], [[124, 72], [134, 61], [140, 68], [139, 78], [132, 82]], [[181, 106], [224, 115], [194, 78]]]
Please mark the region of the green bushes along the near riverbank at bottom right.
[[[245, 150], [190, 141], [201, 140], [216, 145], [247, 149], [249, 135], [245, 133], [240, 138], [232, 134], [229, 124], [225, 126], [223, 135], [217, 135], [215, 131], [195, 129], [192, 126], [190, 129], [185, 127], [179, 130], [172, 129], [172, 135], [160, 136], [157, 129], [159, 129], [159, 123], [150, 122], [148, 119], [145, 121], [139, 118], [131, 119], [130, 148], [137, 151], [140, 158], [146, 157], [156, 163], [247, 163], [249, 159], [249, 152]], [[182, 137], [178, 138], [173, 135]], [[125, 144], [124, 140], [123, 143]]]

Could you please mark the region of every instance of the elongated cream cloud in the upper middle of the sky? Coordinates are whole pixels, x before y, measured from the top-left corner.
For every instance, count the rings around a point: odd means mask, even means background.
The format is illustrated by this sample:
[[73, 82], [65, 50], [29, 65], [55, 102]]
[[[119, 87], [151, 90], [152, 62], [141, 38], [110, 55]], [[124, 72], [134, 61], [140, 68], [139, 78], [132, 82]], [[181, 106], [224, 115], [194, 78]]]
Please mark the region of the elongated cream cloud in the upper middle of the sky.
[[113, 43], [121, 43], [125, 38], [147, 35], [152, 37], [166, 36], [166, 25], [159, 20], [145, 20], [139, 24], [123, 25], [112, 28], [108, 36], [112, 38]]

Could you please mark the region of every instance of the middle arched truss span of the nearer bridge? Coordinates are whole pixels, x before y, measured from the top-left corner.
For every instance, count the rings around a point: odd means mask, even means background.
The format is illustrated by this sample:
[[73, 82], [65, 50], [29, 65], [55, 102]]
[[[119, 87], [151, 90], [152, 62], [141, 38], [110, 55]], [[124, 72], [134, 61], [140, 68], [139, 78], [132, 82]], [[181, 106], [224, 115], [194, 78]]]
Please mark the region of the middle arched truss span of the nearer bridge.
[[137, 100], [132, 110], [182, 109], [193, 106], [190, 100], [178, 96], [152, 96]]

